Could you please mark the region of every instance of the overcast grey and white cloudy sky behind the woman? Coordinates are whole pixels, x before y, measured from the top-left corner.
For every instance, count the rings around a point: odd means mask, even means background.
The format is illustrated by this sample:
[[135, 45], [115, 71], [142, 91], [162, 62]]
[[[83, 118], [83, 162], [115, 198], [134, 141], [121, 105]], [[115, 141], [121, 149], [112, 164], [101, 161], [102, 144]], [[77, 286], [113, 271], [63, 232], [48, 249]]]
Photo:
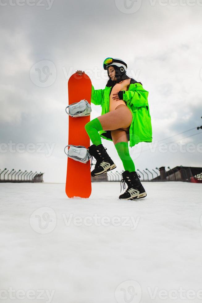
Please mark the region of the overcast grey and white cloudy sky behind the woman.
[[[95, 89], [104, 88], [107, 57], [122, 58], [127, 74], [149, 91], [153, 143], [130, 148], [136, 169], [201, 166], [202, 1], [0, 0], [0, 6], [1, 169], [37, 170], [46, 182], [65, 182], [68, 79], [80, 69]], [[91, 120], [100, 115], [92, 105]], [[102, 143], [123, 170], [113, 142]]]

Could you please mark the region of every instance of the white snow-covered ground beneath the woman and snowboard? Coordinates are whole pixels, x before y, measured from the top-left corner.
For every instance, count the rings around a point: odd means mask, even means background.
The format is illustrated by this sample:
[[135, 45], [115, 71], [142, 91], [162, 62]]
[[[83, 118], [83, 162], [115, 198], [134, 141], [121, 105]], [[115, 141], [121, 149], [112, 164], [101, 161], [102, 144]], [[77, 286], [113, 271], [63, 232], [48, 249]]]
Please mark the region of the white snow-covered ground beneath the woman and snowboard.
[[126, 202], [120, 182], [92, 183], [88, 199], [0, 184], [2, 301], [200, 302], [202, 184], [143, 185]]

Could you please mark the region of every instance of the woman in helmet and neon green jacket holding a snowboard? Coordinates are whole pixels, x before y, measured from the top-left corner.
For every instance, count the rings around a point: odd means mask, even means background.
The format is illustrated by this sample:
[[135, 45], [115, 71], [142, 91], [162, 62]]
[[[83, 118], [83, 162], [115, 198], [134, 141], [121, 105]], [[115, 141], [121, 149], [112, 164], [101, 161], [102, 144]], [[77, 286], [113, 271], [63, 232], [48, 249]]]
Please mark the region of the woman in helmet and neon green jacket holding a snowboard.
[[[109, 80], [105, 89], [95, 90], [92, 86], [91, 102], [101, 105], [101, 116], [88, 122], [86, 132], [93, 143], [88, 151], [97, 162], [91, 176], [98, 176], [116, 168], [101, 143], [101, 137], [113, 141], [125, 171], [122, 173], [123, 186], [128, 185], [120, 199], [133, 200], [146, 197], [139, 175], [128, 150], [138, 142], [152, 142], [151, 117], [147, 101], [148, 92], [141, 82], [126, 75], [127, 64], [118, 58], [107, 58], [103, 62]], [[77, 70], [78, 75], [84, 71]]]

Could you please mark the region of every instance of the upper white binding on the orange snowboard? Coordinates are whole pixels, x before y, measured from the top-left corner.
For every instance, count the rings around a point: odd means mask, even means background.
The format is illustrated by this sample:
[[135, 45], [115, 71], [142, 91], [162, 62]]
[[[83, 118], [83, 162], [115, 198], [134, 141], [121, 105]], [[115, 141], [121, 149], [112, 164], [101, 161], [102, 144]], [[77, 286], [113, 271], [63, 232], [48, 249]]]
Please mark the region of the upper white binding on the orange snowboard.
[[[69, 112], [67, 111], [69, 109]], [[71, 117], [90, 116], [92, 112], [91, 106], [87, 100], [83, 99], [79, 102], [72, 103], [65, 108], [66, 113]]]

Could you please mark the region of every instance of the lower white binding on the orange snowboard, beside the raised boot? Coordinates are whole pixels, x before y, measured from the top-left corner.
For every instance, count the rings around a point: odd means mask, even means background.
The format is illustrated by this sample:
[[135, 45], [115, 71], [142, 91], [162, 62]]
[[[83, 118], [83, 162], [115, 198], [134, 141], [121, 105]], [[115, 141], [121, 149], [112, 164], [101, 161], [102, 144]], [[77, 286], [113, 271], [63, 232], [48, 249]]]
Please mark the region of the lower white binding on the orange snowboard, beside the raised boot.
[[65, 149], [69, 146], [68, 152], [65, 154], [75, 160], [75, 161], [79, 161], [82, 163], [88, 163], [88, 161], [91, 158], [91, 155], [88, 152], [88, 149], [85, 146], [82, 145], [67, 145], [65, 146]]

